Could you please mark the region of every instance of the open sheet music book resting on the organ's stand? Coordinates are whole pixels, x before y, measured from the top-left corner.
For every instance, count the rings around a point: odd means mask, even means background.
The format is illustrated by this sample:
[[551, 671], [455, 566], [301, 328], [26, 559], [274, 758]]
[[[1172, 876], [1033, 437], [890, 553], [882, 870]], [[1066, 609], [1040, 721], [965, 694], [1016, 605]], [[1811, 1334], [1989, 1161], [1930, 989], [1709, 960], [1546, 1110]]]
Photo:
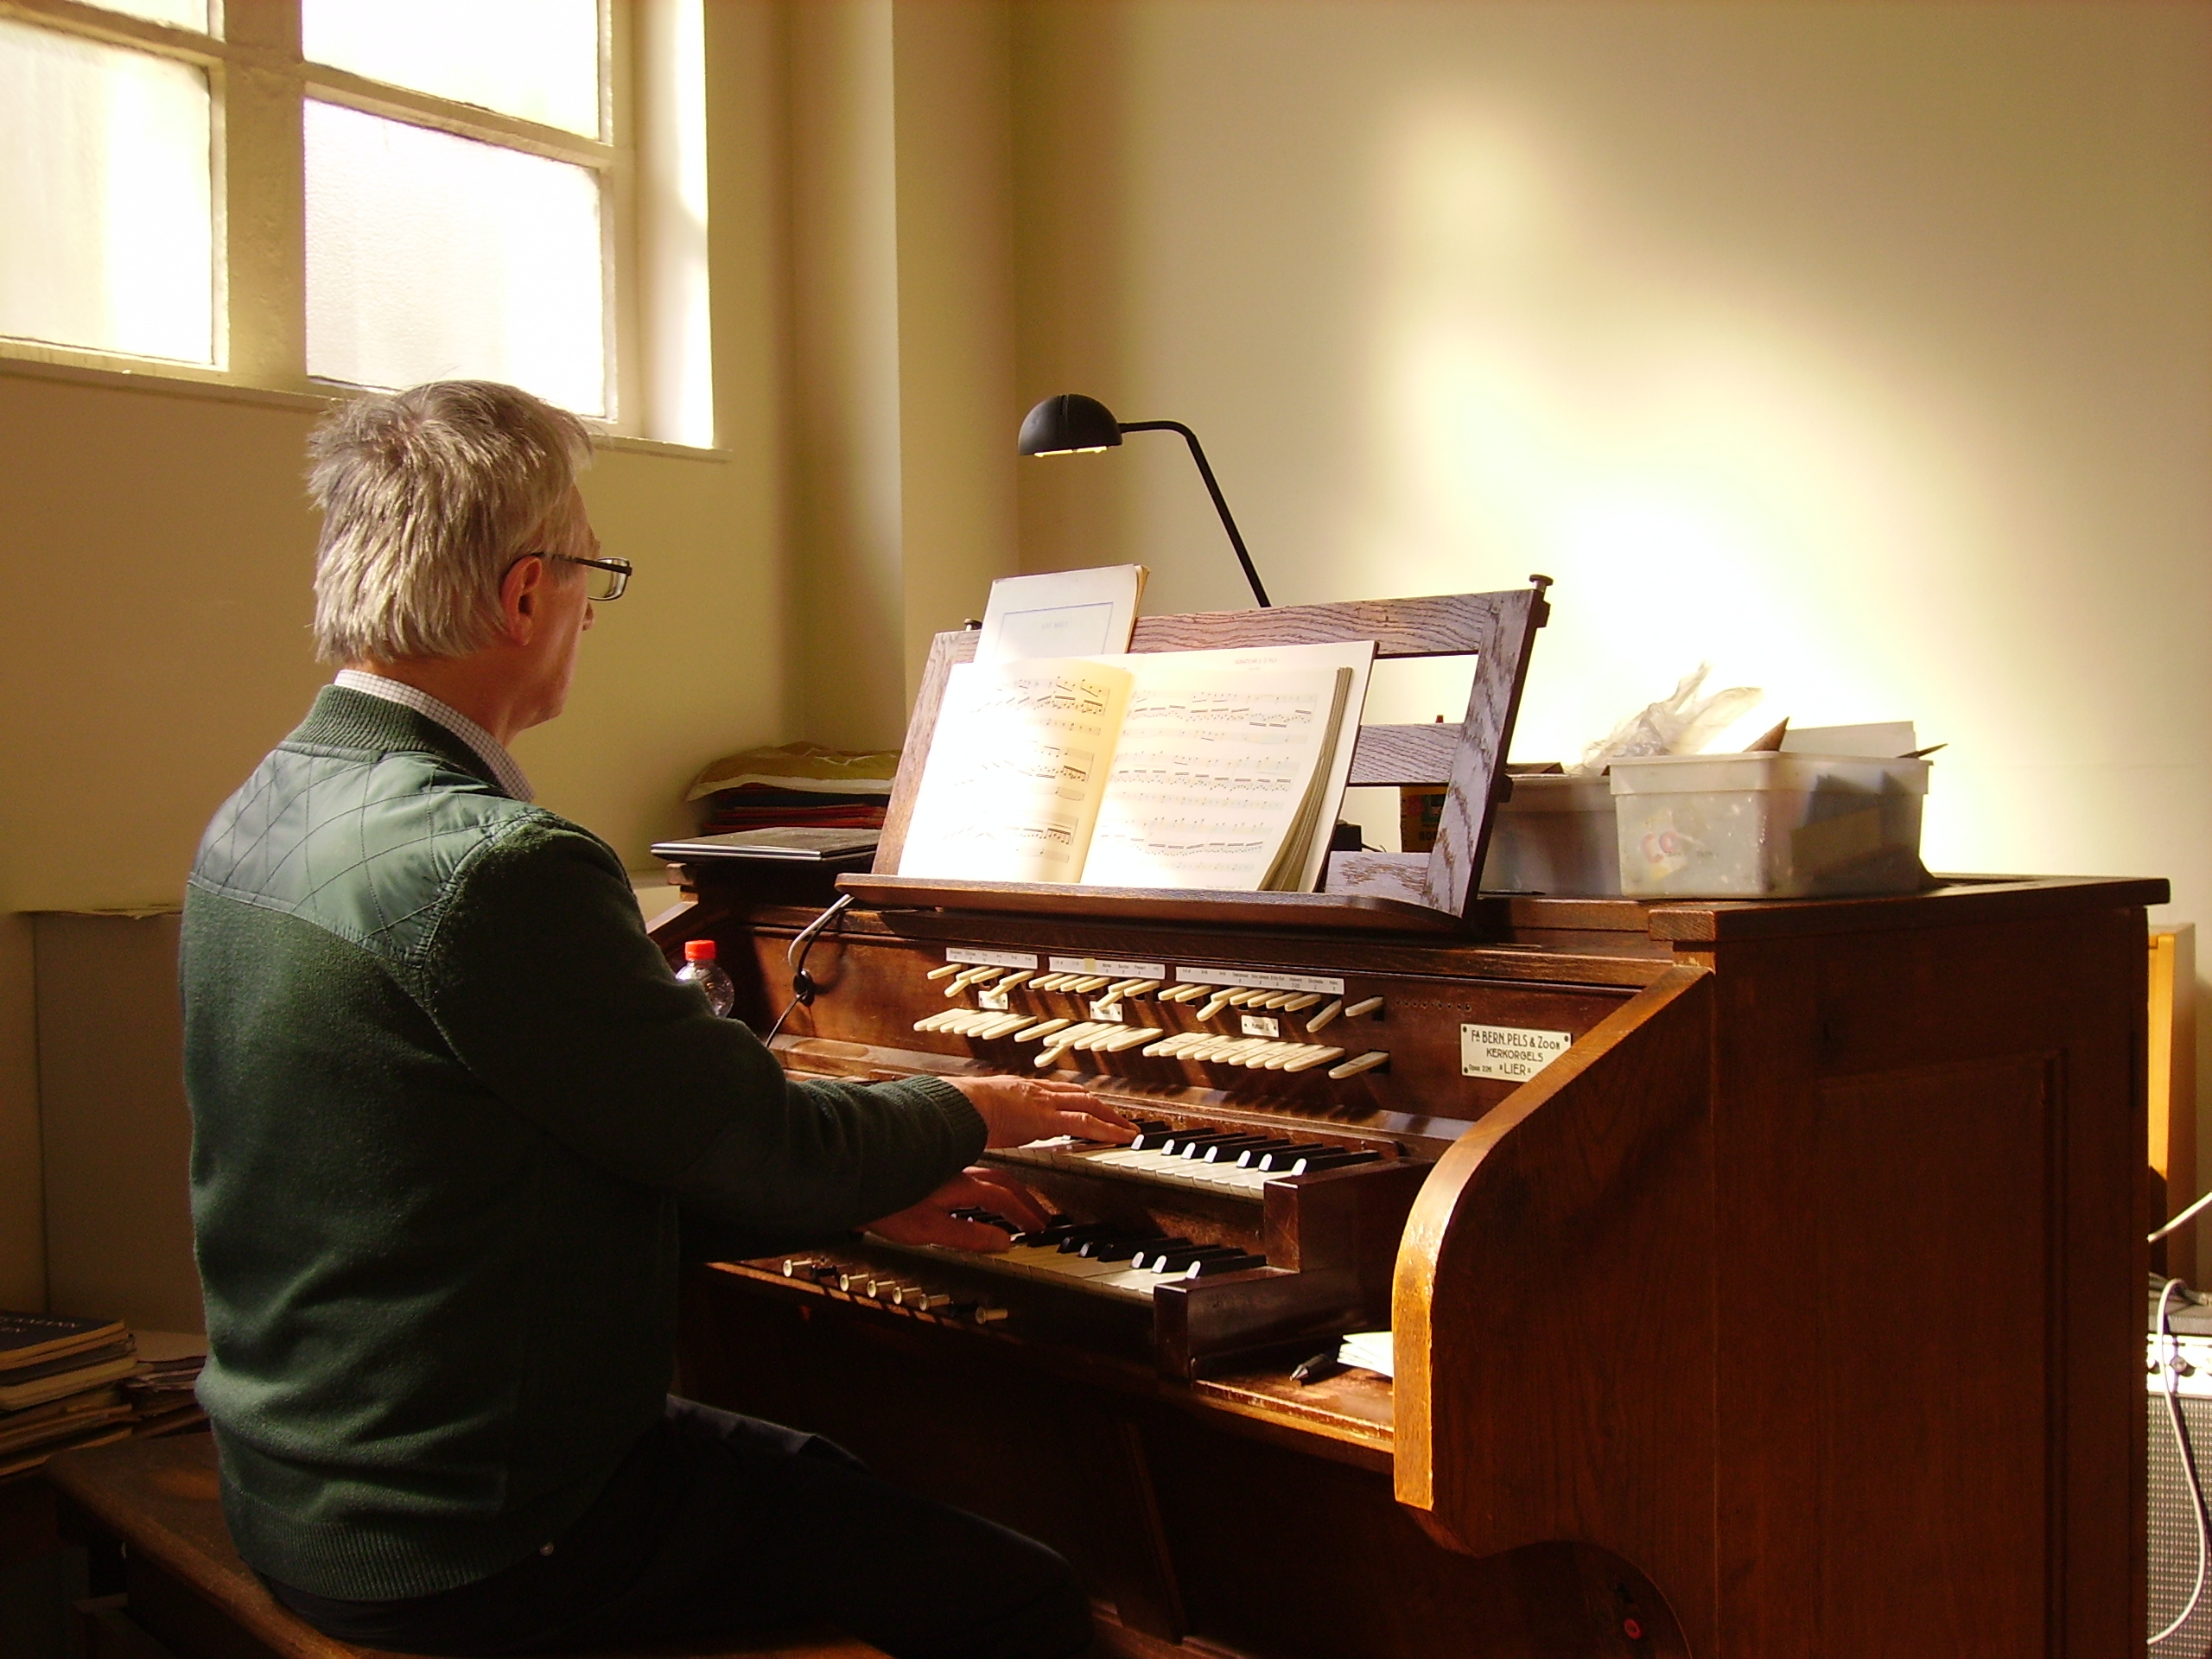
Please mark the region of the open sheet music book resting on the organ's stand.
[[900, 876], [1310, 891], [1374, 641], [960, 664]]

